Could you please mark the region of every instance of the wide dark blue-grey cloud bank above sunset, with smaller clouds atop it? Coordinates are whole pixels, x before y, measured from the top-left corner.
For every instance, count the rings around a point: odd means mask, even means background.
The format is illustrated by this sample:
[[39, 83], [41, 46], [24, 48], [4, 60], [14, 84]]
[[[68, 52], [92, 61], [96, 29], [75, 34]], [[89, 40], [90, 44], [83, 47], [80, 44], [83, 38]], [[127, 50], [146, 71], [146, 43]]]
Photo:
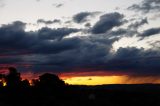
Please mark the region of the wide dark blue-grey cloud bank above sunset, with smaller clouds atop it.
[[[76, 23], [86, 22], [93, 13], [75, 15]], [[53, 24], [60, 20], [37, 23]], [[0, 65], [16, 66], [23, 71], [33, 72], [98, 72], [130, 75], [160, 75], [159, 49], [136, 47], [119, 48], [113, 52], [113, 43], [124, 36], [136, 35], [146, 38], [160, 33], [160, 28], [149, 28], [138, 32], [138, 28], [148, 24], [147, 18], [128, 23], [123, 14], [107, 13], [90, 27], [88, 36], [68, 37], [83, 32], [77, 28], [48, 28], [25, 31], [26, 23], [21, 21], [0, 27]], [[116, 28], [116, 30], [113, 30]]]

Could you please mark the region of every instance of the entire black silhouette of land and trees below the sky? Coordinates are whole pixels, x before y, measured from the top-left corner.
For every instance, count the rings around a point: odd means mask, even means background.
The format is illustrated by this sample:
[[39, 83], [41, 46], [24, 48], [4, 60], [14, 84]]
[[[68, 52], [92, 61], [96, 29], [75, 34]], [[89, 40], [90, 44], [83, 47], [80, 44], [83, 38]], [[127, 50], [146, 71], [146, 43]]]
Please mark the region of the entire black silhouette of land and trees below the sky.
[[0, 79], [0, 106], [160, 106], [158, 84], [77, 86], [45, 73], [30, 85], [13, 67]]

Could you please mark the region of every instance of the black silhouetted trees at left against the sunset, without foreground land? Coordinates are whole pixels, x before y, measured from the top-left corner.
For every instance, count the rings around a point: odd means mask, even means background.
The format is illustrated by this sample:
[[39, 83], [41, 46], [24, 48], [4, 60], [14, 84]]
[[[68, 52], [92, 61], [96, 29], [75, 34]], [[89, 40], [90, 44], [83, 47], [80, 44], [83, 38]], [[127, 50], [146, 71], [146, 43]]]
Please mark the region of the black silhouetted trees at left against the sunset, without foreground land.
[[23, 89], [34, 86], [39, 89], [59, 90], [65, 86], [65, 82], [57, 75], [45, 73], [39, 76], [39, 79], [33, 79], [32, 84], [27, 79], [22, 80], [20, 73], [14, 67], [10, 67], [9, 74], [0, 74], [0, 87], [9, 89]]

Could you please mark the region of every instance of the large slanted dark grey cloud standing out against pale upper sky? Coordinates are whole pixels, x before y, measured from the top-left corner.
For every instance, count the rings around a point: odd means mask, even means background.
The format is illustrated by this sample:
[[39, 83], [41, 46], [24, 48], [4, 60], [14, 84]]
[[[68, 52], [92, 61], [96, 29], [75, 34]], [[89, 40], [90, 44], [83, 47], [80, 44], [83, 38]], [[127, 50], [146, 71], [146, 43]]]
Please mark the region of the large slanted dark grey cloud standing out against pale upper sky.
[[124, 15], [114, 12], [102, 15], [98, 22], [91, 29], [93, 34], [106, 33], [114, 27], [118, 27], [125, 23]]

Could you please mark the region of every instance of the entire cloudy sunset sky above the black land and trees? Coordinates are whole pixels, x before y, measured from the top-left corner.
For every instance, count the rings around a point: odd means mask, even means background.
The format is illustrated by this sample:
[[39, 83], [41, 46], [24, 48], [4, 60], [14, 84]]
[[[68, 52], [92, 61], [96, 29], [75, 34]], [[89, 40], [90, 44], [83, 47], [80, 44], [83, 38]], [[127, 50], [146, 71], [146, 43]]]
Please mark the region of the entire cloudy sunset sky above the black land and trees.
[[0, 0], [0, 73], [160, 83], [159, 20], [160, 0]]

